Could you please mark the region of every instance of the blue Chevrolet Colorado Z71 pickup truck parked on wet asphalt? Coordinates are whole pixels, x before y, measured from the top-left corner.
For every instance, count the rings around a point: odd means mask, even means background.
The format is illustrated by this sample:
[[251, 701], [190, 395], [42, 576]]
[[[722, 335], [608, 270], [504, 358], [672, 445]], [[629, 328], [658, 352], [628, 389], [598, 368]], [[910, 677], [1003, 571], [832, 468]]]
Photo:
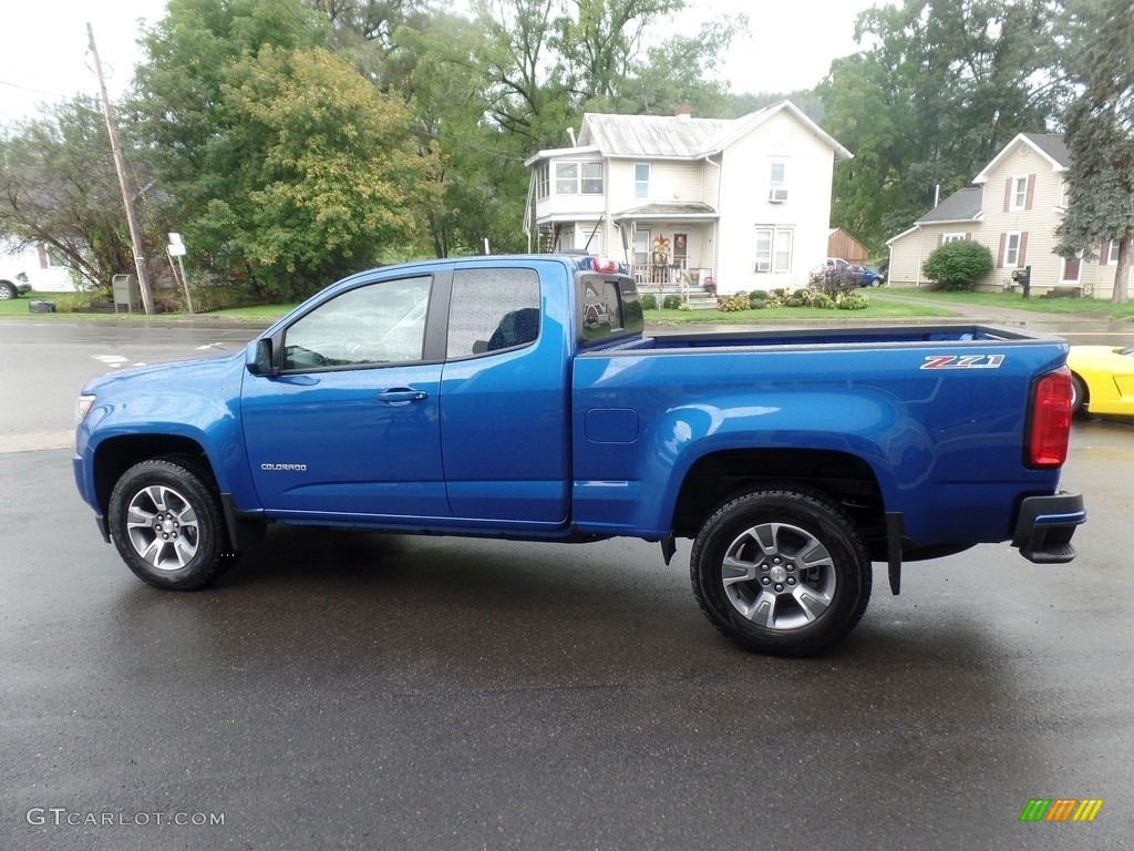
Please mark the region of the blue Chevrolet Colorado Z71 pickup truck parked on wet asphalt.
[[152, 585], [200, 588], [273, 523], [545, 541], [693, 539], [751, 650], [844, 637], [872, 562], [1012, 541], [1074, 557], [1067, 345], [982, 326], [646, 336], [576, 255], [386, 267], [246, 351], [91, 381], [75, 479]]

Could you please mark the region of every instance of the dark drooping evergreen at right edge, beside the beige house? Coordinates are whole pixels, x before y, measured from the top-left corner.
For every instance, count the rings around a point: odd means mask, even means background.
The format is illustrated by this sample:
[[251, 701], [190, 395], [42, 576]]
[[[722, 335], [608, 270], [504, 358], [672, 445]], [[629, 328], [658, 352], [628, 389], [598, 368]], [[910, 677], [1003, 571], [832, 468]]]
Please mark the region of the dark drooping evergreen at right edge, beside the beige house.
[[1134, 247], [1134, 8], [1131, 0], [1086, 3], [1076, 23], [1083, 91], [1066, 113], [1069, 192], [1057, 251], [1093, 259], [1094, 246], [1116, 239], [1111, 300], [1125, 304]]

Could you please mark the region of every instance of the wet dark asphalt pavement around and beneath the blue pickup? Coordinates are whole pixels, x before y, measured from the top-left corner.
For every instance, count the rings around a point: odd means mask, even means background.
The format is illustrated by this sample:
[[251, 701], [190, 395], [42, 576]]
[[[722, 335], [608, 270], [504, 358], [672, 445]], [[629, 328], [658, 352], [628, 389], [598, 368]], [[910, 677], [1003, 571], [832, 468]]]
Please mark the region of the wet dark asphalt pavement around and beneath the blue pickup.
[[[687, 544], [282, 529], [152, 590], [53, 441], [105, 359], [248, 335], [0, 323], [32, 435], [0, 452], [0, 849], [1134, 846], [1134, 424], [1075, 427], [1073, 564], [985, 546], [897, 598], [879, 568], [805, 660], [721, 639]], [[1022, 824], [1034, 798], [1105, 803]]]

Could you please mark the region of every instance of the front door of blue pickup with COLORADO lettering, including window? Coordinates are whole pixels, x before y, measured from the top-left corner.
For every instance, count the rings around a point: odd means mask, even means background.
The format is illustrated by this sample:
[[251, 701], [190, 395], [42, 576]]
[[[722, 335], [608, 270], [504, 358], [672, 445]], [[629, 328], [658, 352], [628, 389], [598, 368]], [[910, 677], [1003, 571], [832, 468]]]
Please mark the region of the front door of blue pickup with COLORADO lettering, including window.
[[282, 335], [280, 374], [247, 376], [245, 440], [274, 516], [449, 515], [441, 365], [424, 363], [431, 276], [374, 281]]

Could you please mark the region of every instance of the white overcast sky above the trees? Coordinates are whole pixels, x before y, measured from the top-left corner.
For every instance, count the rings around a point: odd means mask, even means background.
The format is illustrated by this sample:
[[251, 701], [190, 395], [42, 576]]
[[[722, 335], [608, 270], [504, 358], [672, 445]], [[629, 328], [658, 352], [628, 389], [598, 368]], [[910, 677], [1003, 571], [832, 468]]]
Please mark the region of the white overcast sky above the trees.
[[[691, 0], [674, 22], [695, 33], [699, 20], [721, 14], [748, 15], [750, 35], [723, 57], [733, 91], [789, 92], [810, 89], [831, 59], [857, 50], [854, 20], [881, 0]], [[87, 57], [90, 23], [111, 98], [121, 94], [139, 51], [135, 41], [144, 18], [153, 24], [164, 0], [8, 0], [0, 26], [0, 121], [28, 117], [37, 103], [98, 94]]]

